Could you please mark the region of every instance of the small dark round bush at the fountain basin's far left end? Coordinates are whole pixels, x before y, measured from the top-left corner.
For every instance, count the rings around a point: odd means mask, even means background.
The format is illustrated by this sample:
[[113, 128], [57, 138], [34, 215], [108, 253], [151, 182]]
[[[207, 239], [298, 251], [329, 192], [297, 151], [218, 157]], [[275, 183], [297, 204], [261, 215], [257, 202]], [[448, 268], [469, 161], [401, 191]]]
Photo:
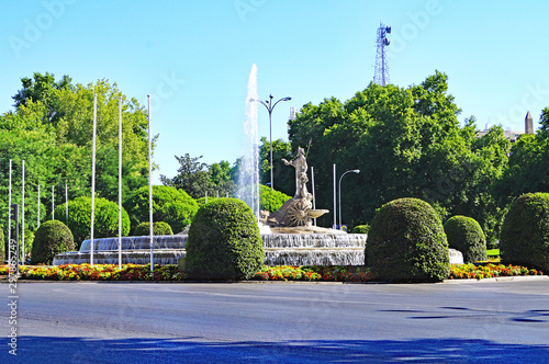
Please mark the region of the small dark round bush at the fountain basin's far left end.
[[49, 265], [56, 254], [74, 250], [75, 239], [70, 229], [59, 220], [48, 220], [36, 230], [31, 263]]

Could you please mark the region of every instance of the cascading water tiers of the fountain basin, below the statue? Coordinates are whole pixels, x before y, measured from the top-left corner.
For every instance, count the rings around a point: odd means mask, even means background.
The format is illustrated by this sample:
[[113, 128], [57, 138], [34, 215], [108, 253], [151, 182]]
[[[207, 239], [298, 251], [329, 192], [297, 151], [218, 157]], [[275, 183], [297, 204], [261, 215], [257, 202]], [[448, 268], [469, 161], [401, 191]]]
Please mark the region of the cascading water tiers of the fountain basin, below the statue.
[[[155, 264], [178, 264], [186, 257], [187, 235], [155, 236], [153, 255]], [[365, 260], [366, 235], [330, 234], [266, 234], [261, 235], [266, 265], [361, 265]], [[122, 263], [150, 262], [150, 238], [123, 237]], [[96, 264], [119, 263], [119, 238], [93, 239]], [[59, 253], [54, 265], [90, 262], [90, 240], [79, 251]]]

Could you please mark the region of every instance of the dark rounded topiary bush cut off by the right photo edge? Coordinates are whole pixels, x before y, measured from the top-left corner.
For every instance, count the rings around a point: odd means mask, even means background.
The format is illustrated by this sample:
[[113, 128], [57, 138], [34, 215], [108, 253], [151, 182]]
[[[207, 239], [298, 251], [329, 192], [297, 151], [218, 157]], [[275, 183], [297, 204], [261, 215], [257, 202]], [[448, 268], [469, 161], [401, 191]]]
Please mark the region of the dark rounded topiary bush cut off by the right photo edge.
[[527, 193], [513, 202], [502, 226], [500, 257], [506, 263], [549, 270], [549, 193]]

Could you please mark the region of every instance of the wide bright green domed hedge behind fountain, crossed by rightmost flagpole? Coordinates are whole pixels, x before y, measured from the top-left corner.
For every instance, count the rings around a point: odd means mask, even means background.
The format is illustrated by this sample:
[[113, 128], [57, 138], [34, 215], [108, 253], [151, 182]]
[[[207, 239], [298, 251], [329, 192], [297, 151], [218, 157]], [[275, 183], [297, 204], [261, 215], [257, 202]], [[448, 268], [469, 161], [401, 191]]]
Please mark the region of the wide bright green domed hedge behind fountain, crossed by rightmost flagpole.
[[[130, 214], [132, 230], [143, 221], [148, 221], [148, 186], [138, 189], [126, 200], [124, 207]], [[199, 205], [183, 190], [167, 185], [153, 186], [153, 221], [165, 221], [176, 232], [183, 231], [191, 224]]]

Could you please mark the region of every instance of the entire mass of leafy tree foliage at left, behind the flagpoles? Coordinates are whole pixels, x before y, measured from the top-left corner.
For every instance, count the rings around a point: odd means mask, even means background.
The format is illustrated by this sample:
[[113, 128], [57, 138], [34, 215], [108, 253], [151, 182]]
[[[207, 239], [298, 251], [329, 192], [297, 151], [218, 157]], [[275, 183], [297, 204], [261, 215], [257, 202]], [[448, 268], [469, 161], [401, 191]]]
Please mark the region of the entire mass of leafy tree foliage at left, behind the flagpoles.
[[[93, 93], [98, 95], [97, 195], [117, 200], [119, 96], [123, 117], [123, 190], [147, 183], [148, 137], [146, 111], [107, 80], [74, 84], [70, 77], [55, 80], [52, 73], [23, 78], [13, 96], [14, 112], [0, 115], [0, 178], [8, 180], [12, 160], [12, 203], [21, 203], [21, 173], [25, 161], [25, 239], [32, 240], [40, 206], [41, 219], [51, 218], [52, 186], [55, 205], [89, 196]], [[41, 186], [41, 202], [37, 190]], [[8, 185], [0, 185], [0, 200], [8, 204]], [[43, 204], [42, 204], [43, 203]], [[46, 209], [48, 213], [46, 213]], [[7, 219], [8, 211], [0, 211]], [[7, 229], [7, 226], [4, 226]]]

